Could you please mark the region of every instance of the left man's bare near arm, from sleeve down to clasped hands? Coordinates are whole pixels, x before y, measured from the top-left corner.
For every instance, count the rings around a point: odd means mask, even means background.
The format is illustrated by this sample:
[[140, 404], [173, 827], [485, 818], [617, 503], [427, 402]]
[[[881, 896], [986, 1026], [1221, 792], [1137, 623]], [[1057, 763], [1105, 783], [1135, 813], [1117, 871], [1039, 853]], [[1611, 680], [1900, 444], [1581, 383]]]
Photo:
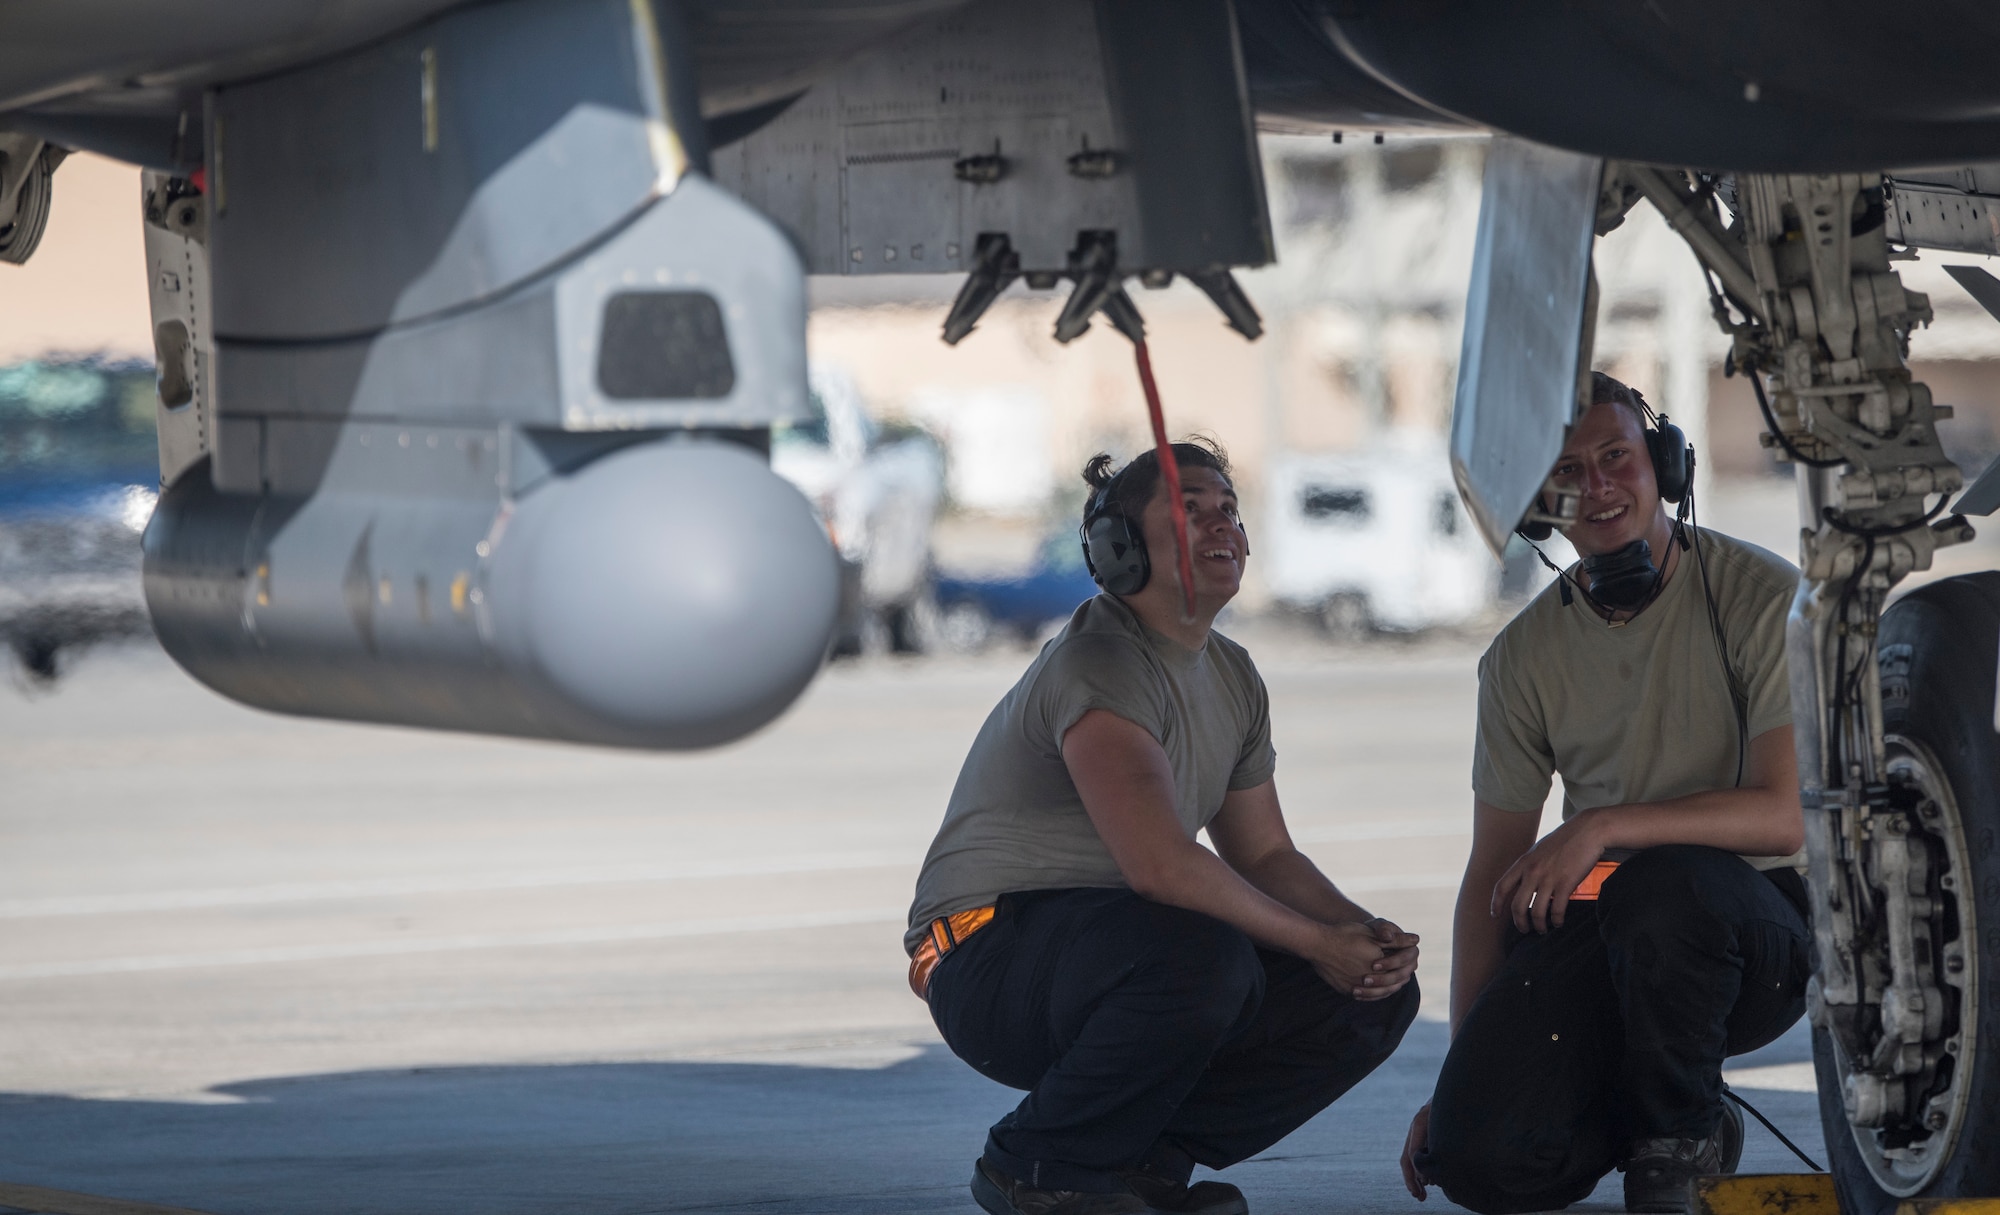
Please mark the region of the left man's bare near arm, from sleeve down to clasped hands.
[[1212, 915], [1260, 945], [1304, 957], [1356, 999], [1382, 999], [1410, 981], [1406, 967], [1374, 969], [1384, 945], [1366, 925], [1300, 915], [1188, 839], [1174, 817], [1172, 765], [1140, 725], [1092, 709], [1062, 737], [1062, 761], [1134, 893]]

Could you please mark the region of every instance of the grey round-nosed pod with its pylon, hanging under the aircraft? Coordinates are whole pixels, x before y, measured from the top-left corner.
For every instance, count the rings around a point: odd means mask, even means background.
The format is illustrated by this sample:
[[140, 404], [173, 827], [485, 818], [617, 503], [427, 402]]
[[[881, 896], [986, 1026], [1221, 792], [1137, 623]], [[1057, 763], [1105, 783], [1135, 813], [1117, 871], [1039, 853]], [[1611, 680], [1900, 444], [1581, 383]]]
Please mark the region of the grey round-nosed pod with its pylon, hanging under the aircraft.
[[704, 176], [662, 14], [462, 8], [216, 90], [206, 174], [148, 174], [144, 586], [194, 677], [634, 747], [812, 679], [838, 560], [768, 464], [810, 410], [804, 270]]

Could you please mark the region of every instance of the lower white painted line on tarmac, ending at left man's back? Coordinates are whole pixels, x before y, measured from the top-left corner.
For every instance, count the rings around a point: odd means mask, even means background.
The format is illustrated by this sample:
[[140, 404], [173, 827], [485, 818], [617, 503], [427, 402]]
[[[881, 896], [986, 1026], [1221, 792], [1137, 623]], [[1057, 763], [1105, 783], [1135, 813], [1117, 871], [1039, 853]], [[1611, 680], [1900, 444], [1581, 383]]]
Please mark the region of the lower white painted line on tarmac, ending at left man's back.
[[190, 971], [286, 961], [330, 961], [342, 957], [400, 957], [408, 953], [462, 953], [470, 949], [536, 949], [546, 945], [616, 945], [624, 941], [670, 941], [676, 937], [720, 937], [730, 933], [772, 933], [786, 929], [840, 927], [850, 923], [904, 923], [904, 907], [862, 911], [802, 911], [794, 915], [740, 915], [732, 919], [686, 919], [680, 923], [630, 923], [546, 933], [492, 933], [468, 937], [416, 937], [404, 941], [340, 941], [328, 945], [272, 945], [264, 949], [218, 949], [214, 953], [156, 953], [150, 957], [98, 957], [88, 961], [42, 961], [0, 965], [0, 983], [24, 979], [66, 979], [76, 975], [130, 975], [142, 971]]

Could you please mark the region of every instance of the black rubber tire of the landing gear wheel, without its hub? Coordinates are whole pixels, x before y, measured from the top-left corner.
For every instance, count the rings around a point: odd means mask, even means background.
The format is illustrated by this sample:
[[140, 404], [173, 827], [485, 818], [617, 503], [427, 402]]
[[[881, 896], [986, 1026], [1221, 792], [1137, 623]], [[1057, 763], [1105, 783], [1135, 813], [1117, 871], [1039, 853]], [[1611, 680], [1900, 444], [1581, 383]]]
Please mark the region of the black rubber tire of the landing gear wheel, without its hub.
[[1950, 1155], [1914, 1193], [1890, 1193], [1846, 1119], [1832, 1039], [1814, 1029], [1820, 1123], [1846, 1215], [1892, 1215], [1898, 1203], [1924, 1197], [2000, 1195], [2000, 572], [1946, 578], [1892, 604], [1882, 615], [1878, 659], [1884, 733], [1922, 743], [1958, 805], [1960, 863], [1970, 869], [1958, 875], [1958, 891], [1976, 925], [1974, 973], [1960, 993], [1960, 1029], [1972, 1033], [1958, 1075], [1970, 1087]]

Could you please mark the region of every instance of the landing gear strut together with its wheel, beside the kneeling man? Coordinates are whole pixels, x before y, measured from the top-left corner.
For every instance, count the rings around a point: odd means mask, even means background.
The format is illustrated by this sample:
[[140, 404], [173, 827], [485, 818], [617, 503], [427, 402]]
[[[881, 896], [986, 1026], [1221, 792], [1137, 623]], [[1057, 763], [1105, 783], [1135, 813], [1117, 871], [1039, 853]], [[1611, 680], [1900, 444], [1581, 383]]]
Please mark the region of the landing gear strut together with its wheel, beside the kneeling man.
[[1798, 470], [1788, 655], [1840, 1205], [2000, 1193], [2000, 1001], [1980, 989], [2000, 971], [2000, 576], [1934, 584], [1884, 617], [1902, 578], [1972, 538], [1938, 518], [1962, 486], [1936, 434], [1950, 410], [1904, 366], [1930, 300], [1890, 268], [1878, 176], [1622, 166], [1612, 190], [1644, 194], [1694, 248], [1766, 444]]

